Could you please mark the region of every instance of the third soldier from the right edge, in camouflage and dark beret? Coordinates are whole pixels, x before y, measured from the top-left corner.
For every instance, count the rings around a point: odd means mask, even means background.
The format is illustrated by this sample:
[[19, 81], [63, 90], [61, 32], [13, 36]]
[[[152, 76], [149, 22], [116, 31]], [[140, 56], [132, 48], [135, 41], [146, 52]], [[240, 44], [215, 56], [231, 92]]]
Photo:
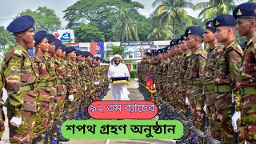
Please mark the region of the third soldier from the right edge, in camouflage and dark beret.
[[217, 43], [214, 33], [216, 28], [214, 27], [213, 20], [206, 22], [206, 30], [203, 36], [203, 42], [209, 45], [208, 56], [206, 59], [206, 67], [203, 73], [204, 91], [206, 94], [206, 105], [204, 110], [209, 119], [211, 137], [220, 140], [220, 127], [216, 121], [216, 107], [214, 102], [214, 71], [216, 70], [216, 62], [219, 55], [222, 53], [223, 46]]

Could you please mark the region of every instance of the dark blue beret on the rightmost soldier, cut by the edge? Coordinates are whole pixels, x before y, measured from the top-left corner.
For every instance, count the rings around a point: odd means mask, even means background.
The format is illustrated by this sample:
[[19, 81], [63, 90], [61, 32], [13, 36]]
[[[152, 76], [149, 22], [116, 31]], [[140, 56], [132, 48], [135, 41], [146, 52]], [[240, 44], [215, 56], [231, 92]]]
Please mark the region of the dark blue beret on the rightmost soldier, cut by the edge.
[[256, 3], [245, 2], [234, 8], [233, 17], [237, 18], [256, 18]]

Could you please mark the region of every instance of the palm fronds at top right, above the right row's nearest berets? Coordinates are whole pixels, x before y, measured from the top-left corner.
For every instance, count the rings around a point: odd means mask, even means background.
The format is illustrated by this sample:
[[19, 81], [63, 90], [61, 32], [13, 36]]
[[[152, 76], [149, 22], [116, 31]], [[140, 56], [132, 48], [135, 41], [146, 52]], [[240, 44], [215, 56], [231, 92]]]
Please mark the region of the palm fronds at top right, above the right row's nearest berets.
[[198, 17], [204, 18], [206, 21], [219, 14], [229, 14], [236, 6], [235, 2], [238, 1], [241, 0], [209, 0], [208, 2], [199, 2], [194, 9], [201, 10]]

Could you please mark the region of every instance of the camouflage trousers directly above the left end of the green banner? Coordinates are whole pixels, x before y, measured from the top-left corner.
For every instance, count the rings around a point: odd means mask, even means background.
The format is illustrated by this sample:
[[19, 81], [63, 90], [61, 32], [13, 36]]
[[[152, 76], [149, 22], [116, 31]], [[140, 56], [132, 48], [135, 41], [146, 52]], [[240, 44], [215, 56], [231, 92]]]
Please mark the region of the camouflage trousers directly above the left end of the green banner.
[[58, 121], [61, 118], [61, 114], [64, 110], [64, 100], [66, 98], [66, 86], [57, 85], [57, 105], [54, 110], [54, 121]]

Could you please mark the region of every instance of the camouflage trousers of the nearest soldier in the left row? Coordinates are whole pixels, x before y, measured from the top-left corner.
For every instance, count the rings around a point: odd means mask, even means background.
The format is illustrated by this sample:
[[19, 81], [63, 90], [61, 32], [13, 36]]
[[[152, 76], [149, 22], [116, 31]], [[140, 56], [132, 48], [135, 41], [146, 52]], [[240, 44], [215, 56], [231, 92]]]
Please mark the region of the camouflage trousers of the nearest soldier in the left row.
[[35, 115], [35, 112], [22, 110], [22, 124], [16, 127], [10, 124], [10, 119], [14, 116], [14, 110], [7, 109], [10, 143], [32, 143]]

